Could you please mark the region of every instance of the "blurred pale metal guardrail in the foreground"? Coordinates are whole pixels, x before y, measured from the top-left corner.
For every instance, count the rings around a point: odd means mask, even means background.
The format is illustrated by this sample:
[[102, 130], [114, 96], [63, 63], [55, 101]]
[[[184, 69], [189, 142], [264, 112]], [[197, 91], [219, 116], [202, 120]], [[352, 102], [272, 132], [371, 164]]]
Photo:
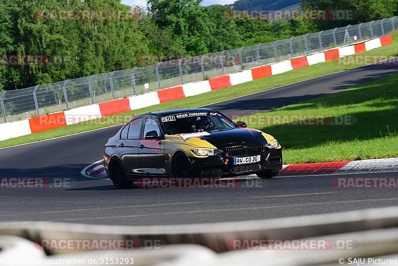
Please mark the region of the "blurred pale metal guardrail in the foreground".
[[[37, 259], [36, 262], [31, 260], [30, 264], [25, 264], [36, 266], [44, 265], [40, 262], [51, 259], [86, 259], [87, 262], [89, 259], [100, 258], [133, 258], [134, 265], [330, 266], [339, 265], [338, 263], [342, 265], [341, 260], [345, 260], [347, 265], [349, 258], [397, 259], [397, 213], [397, 207], [386, 207], [271, 220], [171, 226], [0, 223], [0, 261]], [[301, 250], [257, 250], [255, 247], [254, 250], [231, 250], [228, 245], [231, 240], [306, 239], [327, 242], [347, 240], [355, 244], [336, 249]], [[44, 253], [37, 246], [40, 240], [161, 240], [162, 245], [156, 249], [145, 249], [144, 242], [137, 241], [134, 243], [139, 245], [134, 245], [134, 250], [96, 251], [72, 247], [54, 248]]]

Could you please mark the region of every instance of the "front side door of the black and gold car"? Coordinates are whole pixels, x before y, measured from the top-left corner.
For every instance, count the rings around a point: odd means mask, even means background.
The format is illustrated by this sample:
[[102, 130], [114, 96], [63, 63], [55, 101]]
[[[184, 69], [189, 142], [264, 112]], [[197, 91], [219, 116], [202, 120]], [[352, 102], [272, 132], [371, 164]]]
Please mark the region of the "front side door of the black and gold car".
[[166, 174], [166, 158], [162, 139], [164, 136], [156, 119], [147, 117], [139, 144], [140, 171], [143, 174]]

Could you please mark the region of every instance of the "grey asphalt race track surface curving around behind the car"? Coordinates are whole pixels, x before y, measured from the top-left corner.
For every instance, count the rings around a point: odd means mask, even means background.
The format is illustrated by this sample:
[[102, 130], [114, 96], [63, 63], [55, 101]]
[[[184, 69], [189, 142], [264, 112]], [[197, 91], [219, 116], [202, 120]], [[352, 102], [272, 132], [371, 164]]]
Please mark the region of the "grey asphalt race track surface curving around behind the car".
[[[213, 104], [227, 115], [247, 115], [335, 93], [398, 73], [365, 66]], [[394, 189], [340, 189], [339, 176], [280, 177], [257, 187], [116, 190], [109, 180], [80, 171], [102, 158], [112, 127], [0, 149], [0, 178], [70, 180], [61, 188], [0, 188], [0, 222], [53, 221], [108, 225], [177, 225], [268, 219], [398, 205]], [[398, 172], [343, 177], [398, 177]], [[250, 186], [253, 181], [242, 184]]]

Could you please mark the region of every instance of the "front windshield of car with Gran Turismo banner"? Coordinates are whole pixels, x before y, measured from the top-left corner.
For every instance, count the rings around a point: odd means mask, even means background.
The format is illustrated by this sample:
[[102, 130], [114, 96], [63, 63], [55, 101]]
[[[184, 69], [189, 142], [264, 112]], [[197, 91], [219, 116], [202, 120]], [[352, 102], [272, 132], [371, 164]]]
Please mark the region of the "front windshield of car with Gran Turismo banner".
[[168, 134], [213, 132], [235, 129], [236, 125], [219, 113], [184, 113], [162, 117]]

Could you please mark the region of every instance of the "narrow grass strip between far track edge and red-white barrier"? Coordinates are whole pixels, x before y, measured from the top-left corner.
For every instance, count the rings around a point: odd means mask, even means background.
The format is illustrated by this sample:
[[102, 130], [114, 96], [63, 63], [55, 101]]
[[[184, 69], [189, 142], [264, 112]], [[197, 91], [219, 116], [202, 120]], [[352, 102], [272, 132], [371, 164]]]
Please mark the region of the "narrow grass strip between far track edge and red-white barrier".
[[[384, 47], [380, 47], [371, 51], [362, 53], [363, 55], [398, 55], [398, 31], [393, 34], [394, 43]], [[270, 76], [264, 79], [224, 88], [218, 91], [213, 91], [209, 93], [200, 94], [197, 96], [192, 96], [177, 101], [172, 101], [168, 103], [163, 103], [160, 105], [150, 106], [147, 108], [142, 108], [139, 110], [129, 111], [125, 113], [118, 114], [120, 117], [128, 117], [133, 114], [144, 114], [148, 112], [153, 112], [157, 110], [167, 110], [175, 108], [191, 108], [198, 107], [202, 105], [207, 105], [215, 103], [222, 100], [227, 100], [239, 96], [244, 96], [250, 93], [255, 93], [259, 91], [268, 90], [271, 88], [291, 84], [294, 82], [303, 81], [310, 78], [315, 78], [323, 76], [330, 73], [336, 73], [339, 71], [347, 70], [356, 67], [355, 65], [337, 65], [332, 61], [319, 63], [312, 66], [307, 66], [297, 70], [289, 71], [283, 74]], [[127, 118], [126, 118], [127, 120]], [[90, 130], [105, 128], [113, 126], [112, 123], [103, 123], [107, 121], [106, 118], [101, 118], [97, 121], [84, 122], [76, 125], [71, 125], [67, 127], [62, 127], [59, 129], [49, 130], [41, 133], [34, 133], [30, 135], [20, 136], [16, 138], [11, 138], [7, 140], [0, 141], [0, 147], [13, 146], [23, 143], [34, 142], [43, 139], [49, 139], [53, 137], [65, 136], [73, 133], [81, 133]]]

